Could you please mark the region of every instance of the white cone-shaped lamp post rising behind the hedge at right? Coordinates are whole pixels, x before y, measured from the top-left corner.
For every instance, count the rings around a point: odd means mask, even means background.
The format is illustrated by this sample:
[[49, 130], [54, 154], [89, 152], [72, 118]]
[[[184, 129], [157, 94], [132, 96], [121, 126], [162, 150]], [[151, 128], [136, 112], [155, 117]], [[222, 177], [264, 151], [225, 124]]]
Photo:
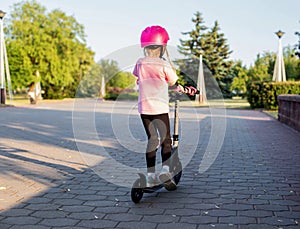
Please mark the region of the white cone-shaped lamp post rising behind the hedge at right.
[[278, 39], [278, 53], [277, 53], [276, 62], [274, 66], [273, 81], [276, 82], [286, 81], [282, 44], [281, 44], [281, 38], [284, 32], [279, 30], [275, 34], [278, 36], [279, 39]]

